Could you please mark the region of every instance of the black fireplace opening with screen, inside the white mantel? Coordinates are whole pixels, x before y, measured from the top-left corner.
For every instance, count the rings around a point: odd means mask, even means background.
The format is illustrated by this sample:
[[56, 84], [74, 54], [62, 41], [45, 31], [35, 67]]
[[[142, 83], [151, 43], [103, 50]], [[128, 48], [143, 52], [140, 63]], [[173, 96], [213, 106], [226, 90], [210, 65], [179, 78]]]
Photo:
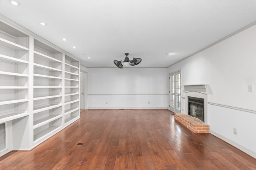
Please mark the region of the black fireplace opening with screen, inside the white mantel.
[[204, 99], [188, 96], [188, 115], [204, 122]]

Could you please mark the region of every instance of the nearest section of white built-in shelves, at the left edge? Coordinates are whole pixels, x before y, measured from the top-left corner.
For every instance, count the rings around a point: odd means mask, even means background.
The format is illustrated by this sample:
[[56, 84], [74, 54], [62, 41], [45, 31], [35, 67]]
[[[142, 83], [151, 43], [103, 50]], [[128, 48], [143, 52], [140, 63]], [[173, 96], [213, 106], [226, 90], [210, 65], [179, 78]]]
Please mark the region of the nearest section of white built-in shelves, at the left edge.
[[[0, 25], [0, 123], [10, 124], [14, 119], [21, 119], [29, 115], [29, 35], [10, 27], [2, 21]], [[20, 123], [20, 121], [17, 121], [17, 125]], [[20, 129], [13, 129], [13, 131], [19, 133]], [[16, 137], [12, 139], [15, 140]], [[8, 145], [12, 146], [12, 143], [6, 140], [6, 149], [3, 149], [4, 151], [0, 153], [0, 156], [13, 149]]]

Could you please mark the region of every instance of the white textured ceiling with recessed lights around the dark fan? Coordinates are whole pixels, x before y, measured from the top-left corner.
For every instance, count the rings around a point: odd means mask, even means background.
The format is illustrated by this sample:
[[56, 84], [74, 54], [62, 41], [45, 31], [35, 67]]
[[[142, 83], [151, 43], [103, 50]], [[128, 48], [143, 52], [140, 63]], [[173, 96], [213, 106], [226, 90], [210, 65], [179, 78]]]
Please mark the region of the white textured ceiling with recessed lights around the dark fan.
[[18, 2], [0, 0], [0, 14], [87, 67], [115, 67], [113, 60], [124, 60], [124, 53], [142, 58], [136, 67], [167, 67], [256, 21], [255, 0]]

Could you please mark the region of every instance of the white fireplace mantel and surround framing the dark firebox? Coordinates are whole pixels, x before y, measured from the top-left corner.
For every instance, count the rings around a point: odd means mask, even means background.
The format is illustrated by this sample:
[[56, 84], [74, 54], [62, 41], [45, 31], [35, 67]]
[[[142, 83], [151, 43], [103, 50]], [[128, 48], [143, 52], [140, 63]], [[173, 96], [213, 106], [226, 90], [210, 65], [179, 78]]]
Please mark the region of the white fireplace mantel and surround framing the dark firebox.
[[204, 123], [208, 125], [208, 86], [209, 84], [189, 84], [183, 85], [184, 92], [186, 94], [186, 114], [188, 114], [188, 96], [195, 98], [203, 98], [204, 99]]

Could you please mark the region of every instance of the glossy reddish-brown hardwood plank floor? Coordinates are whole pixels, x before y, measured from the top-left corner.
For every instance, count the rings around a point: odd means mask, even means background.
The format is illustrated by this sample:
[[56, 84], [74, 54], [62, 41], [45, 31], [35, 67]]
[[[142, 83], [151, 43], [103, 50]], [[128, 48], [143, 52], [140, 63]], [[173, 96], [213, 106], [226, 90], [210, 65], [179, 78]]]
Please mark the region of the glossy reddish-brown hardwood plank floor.
[[0, 169], [256, 170], [256, 159], [211, 134], [192, 133], [166, 109], [102, 109], [82, 111], [31, 151], [2, 156]]

